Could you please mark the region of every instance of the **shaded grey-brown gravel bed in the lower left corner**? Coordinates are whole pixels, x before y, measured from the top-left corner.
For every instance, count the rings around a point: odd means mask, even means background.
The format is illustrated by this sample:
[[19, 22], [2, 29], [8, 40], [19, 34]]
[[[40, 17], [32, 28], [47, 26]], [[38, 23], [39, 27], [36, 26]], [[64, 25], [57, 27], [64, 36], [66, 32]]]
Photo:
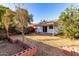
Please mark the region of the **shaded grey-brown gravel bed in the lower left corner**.
[[0, 40], [0, 56], [11, 56], [24, 50], [18, 44], [12, 44], [7, 40]]

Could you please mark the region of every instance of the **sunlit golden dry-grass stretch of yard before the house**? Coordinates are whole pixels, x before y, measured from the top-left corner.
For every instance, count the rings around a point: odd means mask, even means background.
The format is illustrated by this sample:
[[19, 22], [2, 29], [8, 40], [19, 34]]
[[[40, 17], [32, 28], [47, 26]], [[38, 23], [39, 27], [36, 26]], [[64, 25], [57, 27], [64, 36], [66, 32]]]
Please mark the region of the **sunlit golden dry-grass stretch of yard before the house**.
[[43, 42], [47, 45], [54, 46], [54, 47], [72, 46], [72, 47], [79, 48], [79, 40], [70, 40], [68, 38], [62, 38], [59, 36], [44, 35], [44, 34], [40, 35], [35, 33], [26, 35], [25, 37], [38, 42]]

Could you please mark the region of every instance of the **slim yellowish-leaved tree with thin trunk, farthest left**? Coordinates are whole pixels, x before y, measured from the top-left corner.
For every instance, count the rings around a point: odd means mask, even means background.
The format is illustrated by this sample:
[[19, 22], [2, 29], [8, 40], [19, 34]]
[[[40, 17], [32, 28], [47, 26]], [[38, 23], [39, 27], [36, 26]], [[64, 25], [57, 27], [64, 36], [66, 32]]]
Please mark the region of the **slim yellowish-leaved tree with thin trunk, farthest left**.
[[13, 17], [12, 16], [12, 11], [10, 9], [7, 9], [6, 13], [2, 17], [2, 23], [4, 25], [4, 28], [6, 29], [6, 35], [7, 35], [7, 37], [9, 37], [8, 28], [9, 28], [10, 20], [11, 20], [12, 17]]

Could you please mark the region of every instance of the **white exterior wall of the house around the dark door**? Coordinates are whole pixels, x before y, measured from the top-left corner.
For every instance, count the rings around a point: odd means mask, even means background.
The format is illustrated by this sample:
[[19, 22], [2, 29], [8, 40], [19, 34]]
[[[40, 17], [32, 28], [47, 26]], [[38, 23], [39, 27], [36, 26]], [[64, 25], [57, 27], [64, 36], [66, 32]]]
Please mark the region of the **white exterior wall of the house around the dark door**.
[[54, 34], [54, 35], [59, 33], [57, 27], [55, 27], [53, 29], [49, 29], [49, 26], [47, 26], [47, 32], [43, 32], [43, 27], [42, 26], [41, 27], [37, 27], [36, 32], [37, 33], [38, 32], [40, 32], [40, 33], [49, 33], [49, 34]]

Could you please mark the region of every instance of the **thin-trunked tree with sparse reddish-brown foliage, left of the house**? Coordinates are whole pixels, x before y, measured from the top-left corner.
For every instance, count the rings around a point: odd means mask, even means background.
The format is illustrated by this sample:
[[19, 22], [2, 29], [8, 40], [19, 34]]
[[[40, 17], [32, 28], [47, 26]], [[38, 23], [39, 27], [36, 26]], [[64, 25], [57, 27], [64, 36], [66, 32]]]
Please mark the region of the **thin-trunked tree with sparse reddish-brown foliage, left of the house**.
[[[20, 6], [17, 6], [16, 8], [16, 23], [18, 24], [19, 30], [22, 32], [22, 37], [24, 40], [24, 27], [28, 24], [29, 14], [26, 9], [21, 8]], [[25, 25], [26, 24], [26, 25]]]

